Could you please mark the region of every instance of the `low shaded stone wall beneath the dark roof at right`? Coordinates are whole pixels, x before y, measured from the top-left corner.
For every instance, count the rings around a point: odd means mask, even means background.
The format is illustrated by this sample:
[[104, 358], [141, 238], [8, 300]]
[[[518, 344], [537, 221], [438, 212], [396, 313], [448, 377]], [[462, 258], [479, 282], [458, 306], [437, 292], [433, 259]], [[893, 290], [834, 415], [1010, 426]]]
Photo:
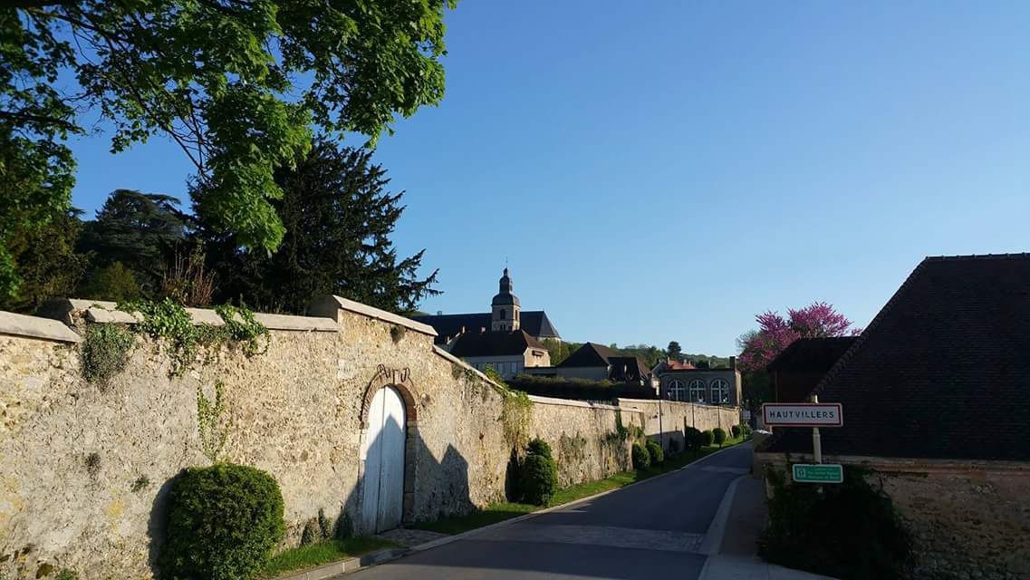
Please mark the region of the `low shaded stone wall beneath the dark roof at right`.
[[[783, 455], [755, 455], [756, 464], [786, 467]], [[914, 580], [1030, 578], [1030, 464], [824, 460], [872, 470], [869, 483], [883, 485], [912, 534]]]

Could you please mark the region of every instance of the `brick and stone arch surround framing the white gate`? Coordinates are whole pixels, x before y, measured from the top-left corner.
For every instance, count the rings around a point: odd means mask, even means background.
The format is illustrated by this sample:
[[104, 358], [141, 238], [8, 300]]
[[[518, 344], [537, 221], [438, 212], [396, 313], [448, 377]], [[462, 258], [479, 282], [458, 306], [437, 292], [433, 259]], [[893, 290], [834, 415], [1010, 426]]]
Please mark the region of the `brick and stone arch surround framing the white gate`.
[[[373, 408], [373, 401], [376, 399], [376, 394], [383, 388], [389, 388], [396, 391], [400, 396], [401, 402], [404, 406], [404, 417], [405, 424], [404, 428], [404, 491], [402, 500], [402, 522], [408, 523], [414, 520], [414, 509], [415, 509], [415, 484], [418, 478], [418, 408], [415, 404], [417, 401], [417, 390], [415, 385], [411, 380], [410, 371], [405, 369], [390, 369], [385, 365], [379, 365], [376, 369], [375, 376], [369, 381], [369, 385], [365, 389], [365, 396], [362, 400], [362, 411], [360, 411], [360, 437], [359, 437], [359, 448], [360, 448], [360, 460], [357, 466], [357, 480], [358, 485], [358, 518], [357, 521], [364, 521], [365, 514], [360, 513], [365, 509], [366, 504], [366, 459], [367, 453], [369, 451], [370, 445], [374, 445], [375, 442], [370, 440], [369, 425], [370, 425], [370, 412]], [[381, 398], [381, 396], [380, 396]], [[362, 533], [374, 534], [375, 530], [366, 531], [362, 530]]]

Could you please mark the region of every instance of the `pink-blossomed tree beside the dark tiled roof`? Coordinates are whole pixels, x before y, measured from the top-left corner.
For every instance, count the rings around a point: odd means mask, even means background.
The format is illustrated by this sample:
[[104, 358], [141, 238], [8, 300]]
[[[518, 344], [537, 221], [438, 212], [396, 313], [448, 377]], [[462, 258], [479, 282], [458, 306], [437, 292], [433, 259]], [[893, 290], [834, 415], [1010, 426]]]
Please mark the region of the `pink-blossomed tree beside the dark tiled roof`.
[[804, 308], [787, 309], [787, 318], [768, 310], [755, 316], [758, 330], [741, 337], [741, 370], [745, 373], [765, 369], [777, 354], [799, 338], [824, 338], [857, 335], [851, 320], [825, 302], [814, 302]]

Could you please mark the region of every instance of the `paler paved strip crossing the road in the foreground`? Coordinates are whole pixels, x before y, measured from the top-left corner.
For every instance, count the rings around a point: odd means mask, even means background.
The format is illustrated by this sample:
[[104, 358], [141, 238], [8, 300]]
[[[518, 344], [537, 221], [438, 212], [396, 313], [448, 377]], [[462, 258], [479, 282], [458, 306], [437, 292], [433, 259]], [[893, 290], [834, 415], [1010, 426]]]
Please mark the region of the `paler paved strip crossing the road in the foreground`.
[[638, 548], [665, 552], [700, 553], [701, 534], [661, 530], [640, 530], [614, 525], [549, 525], [524, 523], [487, 530], [474, 534], [470, 540], [497, 542], [545, 542], [586, 544], [611, 548]]

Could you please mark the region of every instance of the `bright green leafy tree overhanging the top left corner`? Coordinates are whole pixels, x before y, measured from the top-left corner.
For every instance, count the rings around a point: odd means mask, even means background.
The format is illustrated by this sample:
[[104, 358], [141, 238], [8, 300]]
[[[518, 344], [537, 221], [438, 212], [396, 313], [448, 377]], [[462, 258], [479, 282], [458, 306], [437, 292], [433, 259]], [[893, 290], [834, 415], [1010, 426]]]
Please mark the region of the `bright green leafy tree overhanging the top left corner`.
[[[0, 292], [6, 240], [69, 208], [82, 117], [111, 150], [162, 134], [209, 195], [198, 212], [242, 245], [276, 248], [278, 166], [312, 124], [371, 141], [443, 97], [454, 0], [11, 0], [0, 8]], [[58, 83], [62, 72], [77, 83]], [[65, 89], [65, 87], [69, 87]], [[92, 110], [91, 110], [92, 109]]]

